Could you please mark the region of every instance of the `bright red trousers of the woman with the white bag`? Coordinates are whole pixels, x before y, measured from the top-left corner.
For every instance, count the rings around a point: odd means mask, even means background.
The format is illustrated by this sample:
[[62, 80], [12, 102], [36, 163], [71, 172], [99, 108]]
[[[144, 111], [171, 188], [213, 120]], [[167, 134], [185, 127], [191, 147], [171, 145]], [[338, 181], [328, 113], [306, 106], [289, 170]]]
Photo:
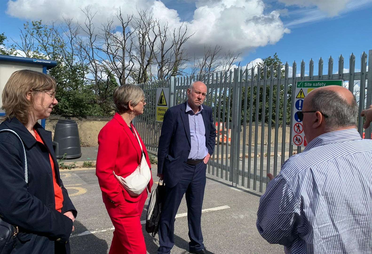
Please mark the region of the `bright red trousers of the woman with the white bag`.
[[146, 254], [142, 233], [141, 214], [147, 199], [145, 189], [138, 202], [124, 200], [118, 206], [105, 202], [107, 212], [115, 227], [109, 254]]

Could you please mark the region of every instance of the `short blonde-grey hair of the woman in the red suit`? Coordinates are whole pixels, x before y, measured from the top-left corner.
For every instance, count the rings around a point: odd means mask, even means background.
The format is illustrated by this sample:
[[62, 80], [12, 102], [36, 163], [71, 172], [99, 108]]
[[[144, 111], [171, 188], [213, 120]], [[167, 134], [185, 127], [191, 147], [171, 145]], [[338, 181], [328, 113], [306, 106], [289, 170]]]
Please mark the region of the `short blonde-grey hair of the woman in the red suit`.
[[119, 113], [129, 110], [130, 101], [132, 101], [131, 106], [135, 107], [144, 97], [145, 94], [141, 87], [134, 84], [125, 84], [116, 87], [113, 93], [113, 100]]

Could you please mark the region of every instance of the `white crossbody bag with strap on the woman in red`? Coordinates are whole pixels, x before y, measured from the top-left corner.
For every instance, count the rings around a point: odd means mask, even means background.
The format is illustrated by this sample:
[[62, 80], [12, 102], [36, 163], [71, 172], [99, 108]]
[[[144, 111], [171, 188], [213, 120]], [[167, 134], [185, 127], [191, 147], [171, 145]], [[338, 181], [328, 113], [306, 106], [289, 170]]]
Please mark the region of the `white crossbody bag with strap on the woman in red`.
[[151, 170], [148, 167], [145, 153], [142, 149], [140, 138], [138, 138], [137, 131], [134, 130], [135, 136], [137, 137], [138, 143], [141, 147], [141, 162], [140, 165], [134, 170], [132, 174], [127, 177], [121, 177], [114, 174], [116, 180], [124, 187], [124, 189], [131, 195], [131, 196], [138, 196], [140, 195], [144, 189], [146, 189], [147, 184], [150, 182], [151, 179]]

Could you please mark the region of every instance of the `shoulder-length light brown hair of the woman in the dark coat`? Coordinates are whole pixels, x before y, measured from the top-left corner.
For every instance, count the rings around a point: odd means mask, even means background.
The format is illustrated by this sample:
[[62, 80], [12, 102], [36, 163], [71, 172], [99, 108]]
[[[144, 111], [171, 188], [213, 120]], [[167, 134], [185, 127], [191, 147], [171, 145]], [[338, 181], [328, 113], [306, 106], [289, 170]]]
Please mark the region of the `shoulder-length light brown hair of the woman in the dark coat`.
[[[54, 78], [47, 74], [32, 70], [15, 71], [2, 93], [2, 109], [5, 111], [5, 116], [0, 118], [0, 122], [16, 117], [23, 125], [27, 125], [29, 115], [34, 109], [35, 95], [42, 91], [56, 89]], [[31, 91], [31, 100], [27, 99], [29, 91]]]

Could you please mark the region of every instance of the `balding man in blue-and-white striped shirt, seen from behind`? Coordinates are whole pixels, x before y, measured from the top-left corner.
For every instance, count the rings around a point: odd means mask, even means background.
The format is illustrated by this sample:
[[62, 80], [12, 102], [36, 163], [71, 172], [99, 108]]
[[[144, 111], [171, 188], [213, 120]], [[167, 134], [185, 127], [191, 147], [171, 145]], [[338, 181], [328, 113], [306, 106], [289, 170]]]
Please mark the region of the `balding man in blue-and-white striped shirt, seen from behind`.
[[308, 141], [260, 199], [257, 229], [286, 253], [372, 253], [372, 141], [349, 90], [321, 87], [299, 114]]

